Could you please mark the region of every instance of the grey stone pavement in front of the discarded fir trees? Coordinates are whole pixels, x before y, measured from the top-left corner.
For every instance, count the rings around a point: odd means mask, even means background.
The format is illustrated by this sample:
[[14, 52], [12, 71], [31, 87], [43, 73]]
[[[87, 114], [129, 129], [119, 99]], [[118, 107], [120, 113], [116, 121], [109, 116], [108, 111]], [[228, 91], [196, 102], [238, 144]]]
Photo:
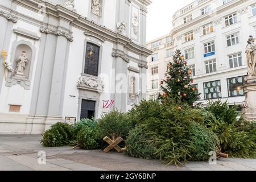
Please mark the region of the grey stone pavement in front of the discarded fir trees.
[[[135, 159], [100, 150], [40, 146], [41, 136], [0, 135], [0, 171], [256, 171], [256, 159], [218, 159], [216, 165], [191, 162], [185, 167], [166, 166], [159, 160]], [[39, 165], [38, 152], [46, 152], [46, 164]]]

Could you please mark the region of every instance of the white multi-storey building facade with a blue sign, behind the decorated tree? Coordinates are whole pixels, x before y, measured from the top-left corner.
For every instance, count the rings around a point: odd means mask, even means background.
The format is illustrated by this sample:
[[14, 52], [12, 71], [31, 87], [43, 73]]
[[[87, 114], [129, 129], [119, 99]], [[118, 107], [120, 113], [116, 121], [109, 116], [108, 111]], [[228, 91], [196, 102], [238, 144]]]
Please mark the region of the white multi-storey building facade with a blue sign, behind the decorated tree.
[[[241, 104], [242, 82], [247, 75], [245, 47], [256, 36], [256, 2], [253, 0], [199, 0], [173, 15], [169, 35], [147, 43], [147, 99], [160, 90], [172, 54], [181, 49], [201, 93], [201, 102], [228, 100]], [[158, 84], [156, 84], [156, 82]]]

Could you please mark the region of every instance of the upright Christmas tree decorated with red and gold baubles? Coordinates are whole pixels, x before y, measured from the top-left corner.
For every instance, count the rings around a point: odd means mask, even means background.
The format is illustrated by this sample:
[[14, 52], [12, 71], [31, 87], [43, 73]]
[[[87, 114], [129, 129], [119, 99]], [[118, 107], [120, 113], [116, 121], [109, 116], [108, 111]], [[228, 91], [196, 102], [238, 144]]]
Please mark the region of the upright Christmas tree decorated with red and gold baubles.
[[193, 85], [192, 71], [187, 67], [187, 61], [180, 50], [175, 51], [173, 63], [168, 64], [166, 79], [161, 82], [163, 94], [160, 99], [171, 98], [176, 102], [193, 105], [200, 99], [197, 86]]

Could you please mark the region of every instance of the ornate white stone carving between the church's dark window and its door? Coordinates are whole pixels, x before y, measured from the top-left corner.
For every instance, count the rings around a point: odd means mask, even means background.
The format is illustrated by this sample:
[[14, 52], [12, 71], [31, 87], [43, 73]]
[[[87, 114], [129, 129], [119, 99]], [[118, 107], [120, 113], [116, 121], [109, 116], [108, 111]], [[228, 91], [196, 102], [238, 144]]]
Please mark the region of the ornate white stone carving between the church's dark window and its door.
[[100, 78], [80, 76], [77, 81], [77, 88], [103, 92], [105, 85]]

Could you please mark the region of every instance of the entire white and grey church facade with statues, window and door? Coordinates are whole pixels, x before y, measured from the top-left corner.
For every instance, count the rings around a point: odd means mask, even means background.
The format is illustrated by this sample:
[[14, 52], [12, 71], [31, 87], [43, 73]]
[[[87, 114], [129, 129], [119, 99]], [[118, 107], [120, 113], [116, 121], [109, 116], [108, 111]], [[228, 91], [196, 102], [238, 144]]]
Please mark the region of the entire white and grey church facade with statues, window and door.
[[42, 134], [146, 98], [150, 3], [2, 0], [0, 134]]

